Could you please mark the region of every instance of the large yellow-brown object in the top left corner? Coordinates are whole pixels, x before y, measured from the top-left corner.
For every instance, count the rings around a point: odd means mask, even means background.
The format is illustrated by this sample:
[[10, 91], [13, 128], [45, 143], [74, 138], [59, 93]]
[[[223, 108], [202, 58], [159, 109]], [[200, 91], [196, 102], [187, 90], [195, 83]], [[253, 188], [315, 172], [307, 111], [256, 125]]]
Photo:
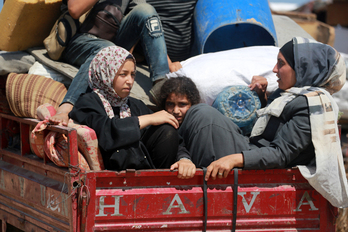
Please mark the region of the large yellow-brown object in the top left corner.
[[0, 50], [43, 46], [60, 15], [62, 0], [6, 0], [0, 12]]

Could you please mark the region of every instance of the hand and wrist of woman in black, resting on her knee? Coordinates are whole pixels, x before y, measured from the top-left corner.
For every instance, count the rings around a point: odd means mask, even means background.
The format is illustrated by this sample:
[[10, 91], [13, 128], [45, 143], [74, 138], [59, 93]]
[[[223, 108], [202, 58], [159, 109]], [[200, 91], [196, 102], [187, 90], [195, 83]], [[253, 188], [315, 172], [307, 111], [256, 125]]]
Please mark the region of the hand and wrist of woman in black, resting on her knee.
[[153, 114], [139, 116], [140, 129], [147, 126], [158, 126], [165, 123], [172, 125], [175, 129], [179, 128], [179, 122], [176, 118], [165, 110], [158, 111]]

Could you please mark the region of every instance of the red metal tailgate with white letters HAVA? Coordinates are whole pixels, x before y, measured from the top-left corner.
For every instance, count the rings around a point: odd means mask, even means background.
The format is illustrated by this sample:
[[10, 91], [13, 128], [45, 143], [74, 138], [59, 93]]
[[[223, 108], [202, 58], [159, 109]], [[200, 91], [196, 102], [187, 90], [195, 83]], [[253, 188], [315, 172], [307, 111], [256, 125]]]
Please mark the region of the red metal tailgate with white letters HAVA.
[[[334, 231], [336, 209], [298, 169], [239, 170], [238, 182], [238, 231]], [[203, 229], [201, 170], [189, 180], [167, 170], [88, 173], [86, 184], [88, 231]], [[232, 172], [208, 182], [208, 230], [232, 228], [232, 185]]]

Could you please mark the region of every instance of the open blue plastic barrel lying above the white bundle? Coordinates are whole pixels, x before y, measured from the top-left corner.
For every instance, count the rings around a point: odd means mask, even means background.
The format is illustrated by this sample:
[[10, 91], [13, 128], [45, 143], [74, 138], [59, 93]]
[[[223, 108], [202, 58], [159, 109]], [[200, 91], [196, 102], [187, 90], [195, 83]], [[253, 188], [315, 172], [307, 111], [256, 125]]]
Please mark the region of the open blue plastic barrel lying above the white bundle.
[[278, 44], [267, 0], [198, 0], [194, 33], [198, 54]]

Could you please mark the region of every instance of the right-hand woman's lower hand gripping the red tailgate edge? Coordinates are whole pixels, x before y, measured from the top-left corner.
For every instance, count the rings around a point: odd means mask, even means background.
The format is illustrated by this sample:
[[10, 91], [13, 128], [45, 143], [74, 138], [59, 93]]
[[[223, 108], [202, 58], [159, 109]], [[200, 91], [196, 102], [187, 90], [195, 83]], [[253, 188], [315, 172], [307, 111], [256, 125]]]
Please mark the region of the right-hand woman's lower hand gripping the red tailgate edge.
[[218, 178], [226, 178], [228, 176], [228, 173], [233, 168], [236, 167], [243, 167], [244, 166], [244, 157], [242, 153], [232, 154], [225, 157], [222, 157], [214, 162], [212, 162], [207, 167], [207, 173], [205, 174], [205, 180], [208, 181], [209, 177], [213, 180], [216, 179], [216, 176]]

